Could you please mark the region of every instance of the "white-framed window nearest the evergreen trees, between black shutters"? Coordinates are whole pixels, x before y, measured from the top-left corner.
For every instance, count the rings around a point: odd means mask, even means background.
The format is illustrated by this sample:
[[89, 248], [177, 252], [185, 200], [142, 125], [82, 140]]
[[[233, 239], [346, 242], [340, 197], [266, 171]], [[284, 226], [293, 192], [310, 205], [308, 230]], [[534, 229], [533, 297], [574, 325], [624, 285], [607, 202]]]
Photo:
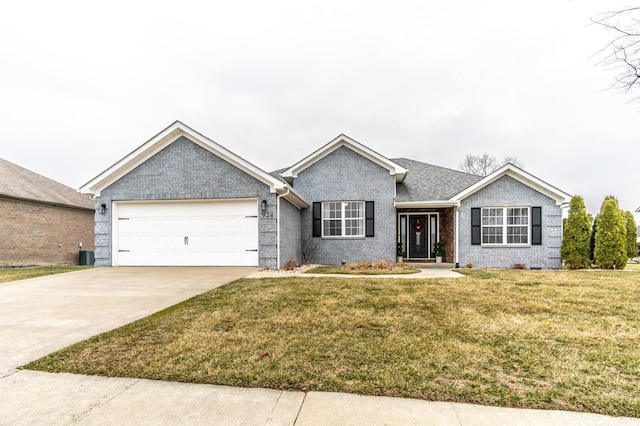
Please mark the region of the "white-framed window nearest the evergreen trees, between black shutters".
[[482, 244], [529, 244], [528, 207], [482, 209]]

